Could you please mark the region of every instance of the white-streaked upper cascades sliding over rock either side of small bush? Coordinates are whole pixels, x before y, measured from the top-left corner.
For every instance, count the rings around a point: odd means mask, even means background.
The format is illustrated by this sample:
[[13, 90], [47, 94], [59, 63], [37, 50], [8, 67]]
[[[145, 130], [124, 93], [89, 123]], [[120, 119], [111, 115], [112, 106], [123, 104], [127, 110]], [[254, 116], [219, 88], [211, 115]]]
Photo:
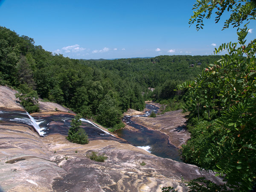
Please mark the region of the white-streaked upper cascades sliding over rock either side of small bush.
[[[0, 120], [2, 122], [12, 122], [18, 124], [29, 125], [42, 137], [50, 134], [62, 134], [67, 136], [70, 128], [70, 123], [74, 118], [73, 115], [52, 115], [52, 116], [30, 116], [29, 113], [24, 111], [0, 111]], [[90, 140], [104, 139], [104, 140], [117, 140], [124, 143], [123, 140], [114, 137], [107, 131], [96, 126], [93, 122], [87, 119], [81, 119], [81, 127], [86, 131]]]

